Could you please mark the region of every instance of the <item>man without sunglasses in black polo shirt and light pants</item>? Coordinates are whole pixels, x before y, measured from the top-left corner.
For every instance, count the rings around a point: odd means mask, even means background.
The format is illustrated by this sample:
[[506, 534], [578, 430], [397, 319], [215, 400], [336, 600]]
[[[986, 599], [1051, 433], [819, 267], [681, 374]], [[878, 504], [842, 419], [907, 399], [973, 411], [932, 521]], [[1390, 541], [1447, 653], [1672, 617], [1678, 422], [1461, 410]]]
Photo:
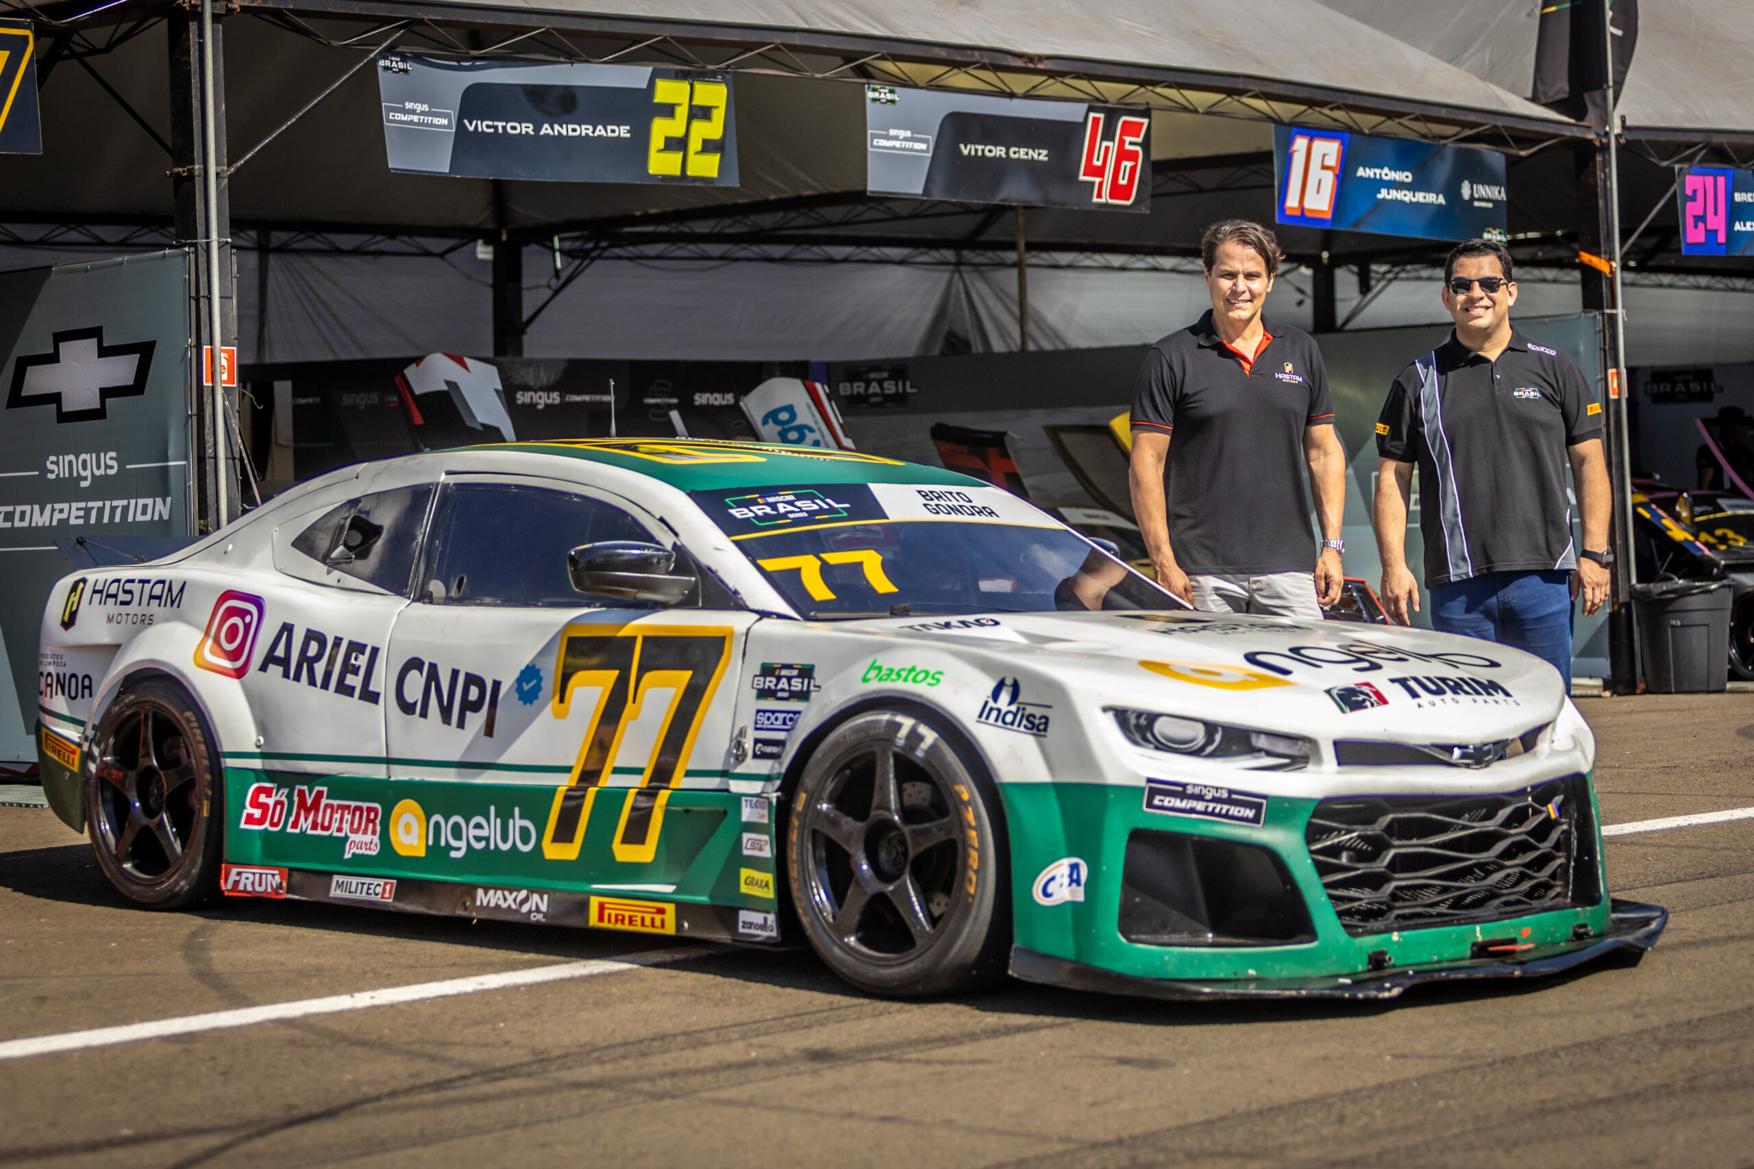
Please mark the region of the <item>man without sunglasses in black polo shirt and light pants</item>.
[[1158, 582], [1194, 608], [1321, 620], [1345, 549], [1328, 372], [1308, 333], [1261, 315], [1284, 259], [1272, 231], [1226, 219], [1200, 251], [1212, 312], [1152, 345], [1133, 391], [1133, 512]]

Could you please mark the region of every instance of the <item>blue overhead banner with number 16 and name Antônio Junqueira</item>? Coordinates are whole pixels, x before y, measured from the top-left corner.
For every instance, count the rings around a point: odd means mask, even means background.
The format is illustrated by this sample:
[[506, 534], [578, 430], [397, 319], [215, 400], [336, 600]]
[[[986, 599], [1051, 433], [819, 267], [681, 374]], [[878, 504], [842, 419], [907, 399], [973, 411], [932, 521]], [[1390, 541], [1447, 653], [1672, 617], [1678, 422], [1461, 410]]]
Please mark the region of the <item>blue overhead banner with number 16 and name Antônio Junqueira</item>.
[[1472, 145], [1273, 126], [1275, 219], [1305, 228], [1503, 240], [1505, 156]]

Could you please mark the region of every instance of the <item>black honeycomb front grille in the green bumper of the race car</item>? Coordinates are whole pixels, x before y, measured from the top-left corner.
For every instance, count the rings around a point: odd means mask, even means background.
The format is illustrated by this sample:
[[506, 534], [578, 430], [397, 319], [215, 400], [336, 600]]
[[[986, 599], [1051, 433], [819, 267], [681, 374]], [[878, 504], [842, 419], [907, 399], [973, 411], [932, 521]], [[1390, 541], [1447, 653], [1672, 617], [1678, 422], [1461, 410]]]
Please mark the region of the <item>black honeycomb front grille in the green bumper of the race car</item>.
[[1580, 775], [1494, 796], [1324, 799], [1303, 838], [1352, 936], [1601, 901]]

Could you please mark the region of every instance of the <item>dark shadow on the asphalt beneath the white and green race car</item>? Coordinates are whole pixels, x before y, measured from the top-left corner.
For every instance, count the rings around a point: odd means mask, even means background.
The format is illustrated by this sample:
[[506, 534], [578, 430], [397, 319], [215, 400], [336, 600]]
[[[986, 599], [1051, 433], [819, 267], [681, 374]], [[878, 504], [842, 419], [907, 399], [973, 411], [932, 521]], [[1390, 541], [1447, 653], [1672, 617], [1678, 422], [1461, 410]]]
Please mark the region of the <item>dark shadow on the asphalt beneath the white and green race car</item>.
[[[58, 845], [0, 852], [0, 889], [54, 901], [70, 906], [98, 910], [133, 910], [111, 887], [98, 869], [88, 845]], [[544, 959], [600, 959], [626, 957], [637, 952], [661, 950], [672, 945], [689, 945], [688, 939], [656, 939], [638, 934], [621, 934], [589, 929], [526, 925], [521, 922], [486, 922], [460, 917], [426, 917], [417, 913], [386, 913], [382, 910], [335, 906], [314, 901], [258, 901], [228, 899], [216, 904], [184, 910], [182, 917], [210, 922], [249, 922], [281, 929], [309, 929], [326, 934], [356, 938], [382, 938], [461, 945], [474, 950], [503, 955]], [[795, 931], [791, 931], [795, 932]], [[728, 978], [749, 985], [803, 990], [844, 999], [875, 1001], [873, 995], [840, 981], [807, 946], [737, 946], [705, 943], [709, 952], [677, 962], [677, 969], [691, 969], [714, 978]], [[966, 1010], [1030, 1018], [1059, 1018], [1066, 1022], [1130, 1022], [1142, 1025], [1238, 1025], [1273, 1024], [1286, 1020], [1368, 1018], [1387, 1011], [1442, 1006], [1449, 1003], [1489, 1003], [1524, 994], [1544, 994], [1563, 985], [1610, 969], [1628, 969], [1642, 955], [1621, 953], [1547, 978], [1493, 980], [1472, 983], [1433, 983], [1414, 987], [1398, 999], [1337, 1001], [1337, 999], [1217, 999], [1200, 1003], [1170, 1003], [1161, 999], [1126, 997], [1044, 987], [1005, 980], [991, 990], [938, 999], [910, 999], [921, 1008], [956, 1004]]]

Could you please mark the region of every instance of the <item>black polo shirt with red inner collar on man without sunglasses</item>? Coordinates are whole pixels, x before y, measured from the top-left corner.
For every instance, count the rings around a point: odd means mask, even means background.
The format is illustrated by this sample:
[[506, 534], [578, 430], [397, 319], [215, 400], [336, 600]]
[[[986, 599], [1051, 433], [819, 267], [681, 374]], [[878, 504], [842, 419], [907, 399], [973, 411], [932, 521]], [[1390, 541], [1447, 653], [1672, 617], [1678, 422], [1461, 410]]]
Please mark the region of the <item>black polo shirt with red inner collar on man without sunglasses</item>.
[[1303, 329], [1263, 321], [1249, 363], [1212, 314], [1151, 347], [1133, 431], [1168, 433], [1170, 547], [1189, 575], [1314, 571], [1303, 429], [1333, 424], [1328, 372]]

